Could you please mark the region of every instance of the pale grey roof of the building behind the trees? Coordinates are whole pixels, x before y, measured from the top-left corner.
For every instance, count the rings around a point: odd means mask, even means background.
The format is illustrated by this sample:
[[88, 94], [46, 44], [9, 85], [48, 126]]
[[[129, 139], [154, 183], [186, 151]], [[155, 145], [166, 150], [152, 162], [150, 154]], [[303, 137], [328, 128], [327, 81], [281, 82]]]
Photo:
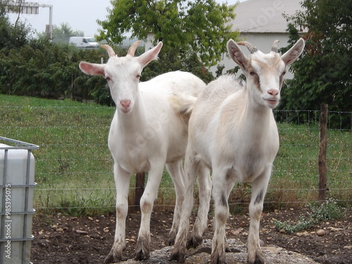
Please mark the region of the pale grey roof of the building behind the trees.
[[239, 32], [284, 33], [287, 20], [282, 13], [294, 15], [303, 10], [301, 0], [246, 0], [234, 9], [236, 18], [232, 20], [232, 30]]

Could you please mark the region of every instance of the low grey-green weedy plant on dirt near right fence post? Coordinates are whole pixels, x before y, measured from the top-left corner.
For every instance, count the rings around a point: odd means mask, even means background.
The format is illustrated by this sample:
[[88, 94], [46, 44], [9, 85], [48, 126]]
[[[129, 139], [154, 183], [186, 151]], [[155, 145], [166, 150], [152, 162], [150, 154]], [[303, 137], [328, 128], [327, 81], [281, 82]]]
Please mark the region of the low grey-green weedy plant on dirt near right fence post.
[[327, 201], [320, 206], [308, 205], [308, 208], [310, 208], [311, 211], [306, 218], [300, 215], [298, 222], [294, 225], [289, 222], [275, 220], [277, 230], [285, 230], [287, 233], [292, 234], [302, 230], [308, 230], [308, 228], [318, 222], [343, 219], [346, 217], [346, 208], [337, 205], [337, 201], [331, 198], [327, 199]]

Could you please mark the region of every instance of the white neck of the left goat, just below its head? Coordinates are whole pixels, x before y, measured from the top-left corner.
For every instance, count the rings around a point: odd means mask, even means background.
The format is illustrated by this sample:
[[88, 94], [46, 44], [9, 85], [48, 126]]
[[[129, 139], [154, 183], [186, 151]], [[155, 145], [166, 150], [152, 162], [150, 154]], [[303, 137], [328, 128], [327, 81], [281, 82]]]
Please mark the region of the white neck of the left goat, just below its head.
[[119, 110], [116, 110], [116, 112], [120, 130], [127, 130], [127, 132], [141, 131], [146, 126], [146, 111], [140, 92], [130, 113], [121, 113]]

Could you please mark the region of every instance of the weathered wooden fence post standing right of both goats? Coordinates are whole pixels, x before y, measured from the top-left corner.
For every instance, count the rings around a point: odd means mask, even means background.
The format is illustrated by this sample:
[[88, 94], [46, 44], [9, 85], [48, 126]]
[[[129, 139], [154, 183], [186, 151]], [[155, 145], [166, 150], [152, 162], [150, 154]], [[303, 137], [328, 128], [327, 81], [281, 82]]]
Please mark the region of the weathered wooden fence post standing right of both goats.
[[319, 190], [318, 201], [324, 202], [327, 197], [327, 113], [328, 105], [323, 103], [320, 106], [320, 143], [319, 143]]

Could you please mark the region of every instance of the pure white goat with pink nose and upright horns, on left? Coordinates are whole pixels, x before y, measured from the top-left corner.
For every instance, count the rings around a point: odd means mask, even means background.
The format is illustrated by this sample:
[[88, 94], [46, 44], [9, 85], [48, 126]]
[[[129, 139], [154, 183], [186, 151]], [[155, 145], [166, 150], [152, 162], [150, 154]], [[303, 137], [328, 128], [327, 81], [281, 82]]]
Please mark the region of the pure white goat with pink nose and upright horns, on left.
[[[139, 43], [134, 43], [125, 57], [116, 56], [110, 46], [103, 45], [108, 51], [108, 63], [80, 63], [84, 73], [106, 78], [116, 104], [108, 136], [108, 146], [115, 162], [116, 230], [114, 244], [105, 263], [122, 260], [130, 175], [146, 171], [149, 175], [140, 202], [142, 220], [134, 258], [149, 258], [151, 210], [165, 163], [177, 197], [170, 231], [170, 242], [175, 241], [184, 198], [182, 158], [187, 146], [189, 114], [196, 96], [206, 87], [199, 77], [181, 71], [139, 82], [142, 69], [157, 58], [163, 45], [160, 42], [141, 56], [134, 57]], [[206, 217], [203, 214], [203, 218]]]

